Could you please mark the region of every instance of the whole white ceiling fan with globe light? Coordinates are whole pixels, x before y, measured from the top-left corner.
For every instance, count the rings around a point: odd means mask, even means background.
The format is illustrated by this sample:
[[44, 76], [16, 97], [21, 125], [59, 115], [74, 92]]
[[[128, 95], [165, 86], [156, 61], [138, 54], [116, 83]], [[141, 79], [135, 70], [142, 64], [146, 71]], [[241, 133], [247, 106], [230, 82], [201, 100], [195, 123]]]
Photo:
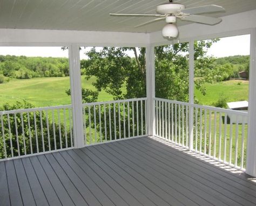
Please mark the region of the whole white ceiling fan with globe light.
[[187, 20], [190, 22], [215, 25], [221, 22], [220, 18], [207, 17], [196, 14], [225, 11], [225, 9], [222, 6], [218, 5], [205, 5], [186, 9], [185, 5], [173, 3], [172, 0], [169, 0], [169, 3], [158, 5], [156, 11], [157, 14], [110, 13], [110, 15], [133, 17], [158, 17], [156, 19], [150, 20], [149, 22], [145, 22], [143, 24], [134, 26], [135, 28], [165, 19], [165, 22], [167, 24], [164, 26], [162, 34], [163, 37], [170, 39], [178, 37], [179, 31], [177, 25], [175, 24], [177, 18], [181, 20]]

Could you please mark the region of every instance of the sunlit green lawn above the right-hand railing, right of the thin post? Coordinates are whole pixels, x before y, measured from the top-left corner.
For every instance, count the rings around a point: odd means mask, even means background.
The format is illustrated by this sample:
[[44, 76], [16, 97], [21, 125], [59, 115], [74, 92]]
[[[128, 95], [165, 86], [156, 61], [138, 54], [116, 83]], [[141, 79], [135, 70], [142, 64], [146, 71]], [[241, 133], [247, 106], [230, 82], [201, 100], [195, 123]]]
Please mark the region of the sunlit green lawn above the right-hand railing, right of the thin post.
[[206, 95], [195, 89], [194, 94], [199, 104], [213, 105], [220, 96], [226, 97], [227, 102], [248, 100], [249, 82], [244, 80], [230, 80], [214, 84], [206, 83]]

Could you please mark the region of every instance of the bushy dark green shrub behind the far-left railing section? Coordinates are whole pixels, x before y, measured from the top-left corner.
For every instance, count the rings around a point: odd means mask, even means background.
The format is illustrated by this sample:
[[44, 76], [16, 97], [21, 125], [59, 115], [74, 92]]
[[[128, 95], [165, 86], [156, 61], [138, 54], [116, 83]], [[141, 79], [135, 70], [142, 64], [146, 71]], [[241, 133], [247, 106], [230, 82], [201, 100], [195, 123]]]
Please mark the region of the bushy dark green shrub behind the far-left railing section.
[[[30, 109], [33, 107], [34, 106], [32, 104], [26, 101], [16, 102], [12, 105], [5, 103], [0, 106], [0, 111]], [[66, 127], [67, 130], [65, 133], [65, 125], [63, 123], [58, 124], [56, 121], [53, 122], [51, 116], [49, 116], [47, 119], [46, 113], [44, 111], [41, 113], [39, 111], [23, 112], [22, 114], [16, 113], [16, 116], [10, 114], [9, 117], [7, 115], [3, 115], [0, 118], [0, 122], [2, 122], [4, 128], [3, 132], [7, 157], [11, 157], [11, 147], [13, 148], [14, 157], [18, 155], [18, 145], [21, 155], [25, 153], [35, 153], [37, 150], [38, 152], [43, 152], [43, 145], [45, 147], [45, 151], [54, 150], [55, 148], [59, 149], [61, 144], [60, 141], [62, 141], [62, 146], [65, 148], [66, 139], [68, 142], [68, 147], [71, 145], [69, 127]], [[22, 122], [23, 126], [21, 124]], [[49, 123], [49, 127], [46, 126], [47, 122]], [[41, 127], [41, 125], [43, 125], [43, 127]], [[0, 128], [1, 127], [2, 126], [0, 125]], [[42, 136], [44, 136], [44, 139], [42, 139]], [[53, 139], [54, 136], [56, 136], [56, 140]], [[24, 143], [26, 146], [24, 146]], [[1, 133], [0, 159], [4, 158], [4, 151], [3, 136]]]

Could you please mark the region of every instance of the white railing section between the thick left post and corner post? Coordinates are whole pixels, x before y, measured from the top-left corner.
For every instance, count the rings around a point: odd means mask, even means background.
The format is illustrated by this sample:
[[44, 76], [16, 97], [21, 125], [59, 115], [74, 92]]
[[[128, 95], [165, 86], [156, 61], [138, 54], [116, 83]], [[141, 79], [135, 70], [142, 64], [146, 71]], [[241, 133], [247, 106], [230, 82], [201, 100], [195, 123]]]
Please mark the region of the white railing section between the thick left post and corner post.
[[84, 103], [84, 144], [147, 136], [146, 107], [146, 98]]

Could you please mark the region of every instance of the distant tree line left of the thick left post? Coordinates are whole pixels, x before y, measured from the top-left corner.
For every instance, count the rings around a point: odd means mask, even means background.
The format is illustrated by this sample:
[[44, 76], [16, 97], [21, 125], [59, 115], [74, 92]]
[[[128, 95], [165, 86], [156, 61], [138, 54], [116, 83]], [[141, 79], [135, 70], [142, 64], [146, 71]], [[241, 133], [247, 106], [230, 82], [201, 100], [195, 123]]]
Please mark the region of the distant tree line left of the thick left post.
[[69, 59], [0, 55], [0, 83], [13, 79], [69, 76]]

